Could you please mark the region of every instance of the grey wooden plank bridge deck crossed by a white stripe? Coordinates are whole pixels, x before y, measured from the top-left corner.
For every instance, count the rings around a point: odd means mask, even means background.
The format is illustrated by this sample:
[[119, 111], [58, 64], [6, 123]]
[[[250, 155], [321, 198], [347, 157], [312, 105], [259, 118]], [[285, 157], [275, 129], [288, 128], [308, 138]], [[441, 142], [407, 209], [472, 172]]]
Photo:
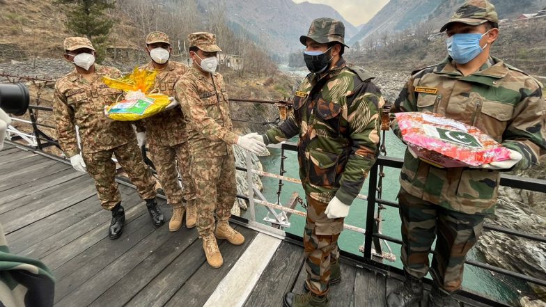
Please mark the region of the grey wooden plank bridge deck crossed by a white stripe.
[[[136, 191], [122, 184], [120, 191], [127, 221], [123, 235], [111, 240], [111, 216], [89, 175], [13, 145], [0, 152], [0, 223], [13, 253], [40, 259], [54, 272], [55, 306], [280, 307], [285, 292], [303, 291], [298, 244], [236, 225], [246, 242], [219, 242], [224, 265], [212, 269], [195, 228], [155, 228]], [[168, 220], [169, 207], [160, 205]], [[331, 307], [384, 306], [385, 294], [400, 284], [400, 276], [341, 265]]]

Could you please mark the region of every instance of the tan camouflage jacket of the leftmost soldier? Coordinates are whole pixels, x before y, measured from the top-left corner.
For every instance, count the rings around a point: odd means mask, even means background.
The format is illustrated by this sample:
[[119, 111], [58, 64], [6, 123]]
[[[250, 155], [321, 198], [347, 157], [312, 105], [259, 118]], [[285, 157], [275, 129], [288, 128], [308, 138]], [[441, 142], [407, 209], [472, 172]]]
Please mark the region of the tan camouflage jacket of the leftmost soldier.
[[75, 126], [79, 127], [83, 152], [109, 150], [135, 138], [130, 123], [109, 120], [104, 115], [104, 107], [116, 102], [122, 91], [109, 88], [102, 82], [102, 76], [119, 78], [121, 72], [95, 65], [95, 76], [91, 81], [74, 70], [55, 84], [53, 111], [57, 137], [67, 157], [79, 153]]

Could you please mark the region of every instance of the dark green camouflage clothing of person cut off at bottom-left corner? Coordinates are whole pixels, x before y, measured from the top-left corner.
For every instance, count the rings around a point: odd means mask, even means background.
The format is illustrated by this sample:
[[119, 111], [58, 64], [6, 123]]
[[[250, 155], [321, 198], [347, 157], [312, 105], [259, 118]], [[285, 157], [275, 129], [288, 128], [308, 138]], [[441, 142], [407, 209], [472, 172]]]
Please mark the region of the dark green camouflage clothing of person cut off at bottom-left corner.
[[51, 307], [55, 278], [40, 261], [10, 253], [0, 225], [0, 306]]

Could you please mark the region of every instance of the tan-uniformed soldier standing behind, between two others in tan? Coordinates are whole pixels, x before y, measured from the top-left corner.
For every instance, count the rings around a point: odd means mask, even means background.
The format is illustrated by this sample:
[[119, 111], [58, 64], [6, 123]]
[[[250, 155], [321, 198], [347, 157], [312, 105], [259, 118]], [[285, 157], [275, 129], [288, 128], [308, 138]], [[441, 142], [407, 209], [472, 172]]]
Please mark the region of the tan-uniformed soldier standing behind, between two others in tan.
[[[139, 146], [150, 141], [149, 149], [167, 202], [173, 207], [173, 216], [169, 230], [176, 231], [182, 226], [182, 217], [186, 212], [186, 227], [195, 227], [197, 210], [192, 178], [189, 176], [189, 147], [187, 143], [186, 123], [178, 102], [174, 100], [174, 84], [189, 69], [186, 65], [169, 61], [173, 48], [169, 36], [162, 32], [151, 32], [146, 36], [146, 52], [152, 61], [141, 66], [144, 70], [156, 70], [155, 88], [168, 95], [173, 103], [167, 111], [159, 113], [137, 124]], [[182, 175], [182, 191], [178, 184], [178, 171]], [[185, 203], [185, 205], [184, 205]]]

